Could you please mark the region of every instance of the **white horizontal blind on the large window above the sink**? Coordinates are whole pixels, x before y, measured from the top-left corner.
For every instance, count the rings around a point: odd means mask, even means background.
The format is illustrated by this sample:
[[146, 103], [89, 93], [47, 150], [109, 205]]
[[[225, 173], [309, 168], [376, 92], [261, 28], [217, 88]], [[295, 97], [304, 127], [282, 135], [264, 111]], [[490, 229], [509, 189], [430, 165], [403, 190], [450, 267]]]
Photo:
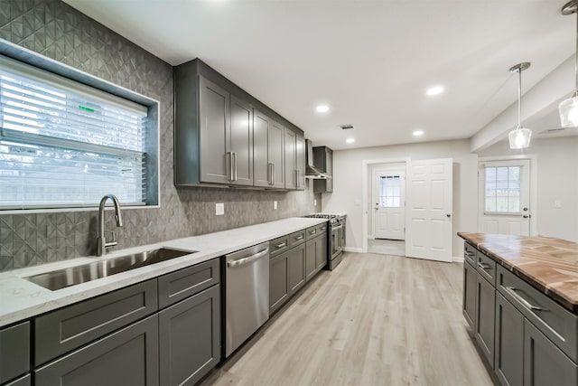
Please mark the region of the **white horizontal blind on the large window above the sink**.
[[146, 201], [147, 108], [0, 57], [0, 209]]

